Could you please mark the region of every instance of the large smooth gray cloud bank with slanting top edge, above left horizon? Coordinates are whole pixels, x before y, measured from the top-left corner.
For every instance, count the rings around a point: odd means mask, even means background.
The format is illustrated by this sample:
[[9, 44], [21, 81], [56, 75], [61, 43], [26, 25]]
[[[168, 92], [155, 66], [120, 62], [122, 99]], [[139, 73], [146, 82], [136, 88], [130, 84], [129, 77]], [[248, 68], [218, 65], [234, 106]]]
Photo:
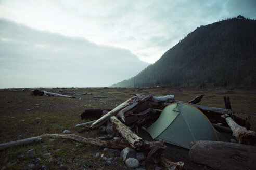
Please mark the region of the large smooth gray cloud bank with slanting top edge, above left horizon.
[[129, 50], [0, 19], [0, 88], [109, 86], [147, 65]]

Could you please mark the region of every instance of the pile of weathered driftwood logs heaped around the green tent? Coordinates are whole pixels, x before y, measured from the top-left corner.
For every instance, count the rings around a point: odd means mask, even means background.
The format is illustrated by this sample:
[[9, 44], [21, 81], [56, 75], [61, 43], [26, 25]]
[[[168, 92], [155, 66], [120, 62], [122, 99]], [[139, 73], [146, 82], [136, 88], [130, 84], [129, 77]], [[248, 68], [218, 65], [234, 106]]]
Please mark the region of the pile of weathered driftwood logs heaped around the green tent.
[[[256, 159], [256, 147], [252, 145], [256, 144], [256, 133], [254, 131], [249, 131], [250, 117], [242, 119], [234, 116], [234, 111], [231, 110], [230, 103], [226, 102], [225, 104], [228, 109], [197, 105], [196, 103], [200, 102], [202, 97], [203, 95], [196, 97], [189, 102], [182, 102], [174, 100], [173, 95], [162, 97], [136, 95], [111, 111], [101, 109], [85, 110], [83, 114], [81, 114], [82, 119], [87, 119], [90, 118], [90, 116], [93, 116], [94, 118], [97, 118], [97, 120], [78, 124], [76, 126], [82, 127], [78, 131], [81, 133], [83, 131], [101, 128], [108, 122], [126, 141], [128, 141], [130, 147], [136, 150], [151, 149], [148, 153], [151, 157], [157, 153], [158, 149], [165, 148], [164, 143], [161, 140], [154, 143], [144, 141], [138, 136], [138, 128], [145, 129], [155, 122], [165, 106], [176, 102], [188, 103], [201, 110], [217, 130], [233, 133], [239, 143], [194, 141], [190, 144], [190, 160], [218, 169], [230, 169], [234, 166], [235, 161], [236, 168], [234, 169], [253, 169], [253, 160]], [[105, 142], [111, 143], [111, 147], [118, 148], [118, 145], [113, 145], [113, 143], [118, 144], [118, 141], [116, 140]], [[169, 168], [177, 165], [177, 163], [171, 162], [170, 160], [168, 160], [169, 163], [167, 163], [166, 158], [160, 158], [160, 163], [165, 166], [168, 164]], [[225, 160], [225, 162], [223, 160]], [[182, 167], [183, 166], [175, 166], [175, 168], [178, 169], [182, 169]]]

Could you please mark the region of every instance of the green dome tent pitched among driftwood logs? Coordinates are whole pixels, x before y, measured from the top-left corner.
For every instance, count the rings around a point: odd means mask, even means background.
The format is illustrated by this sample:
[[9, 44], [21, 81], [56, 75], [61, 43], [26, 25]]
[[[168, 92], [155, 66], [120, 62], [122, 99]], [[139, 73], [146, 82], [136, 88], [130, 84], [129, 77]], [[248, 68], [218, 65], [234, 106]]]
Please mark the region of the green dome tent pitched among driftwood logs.
[[199, 109], [186, 103], [165, 107], [158, 120], [146, 131], [153, 139], [162, 139], [187, 149], [195, 140], [226, 141]]

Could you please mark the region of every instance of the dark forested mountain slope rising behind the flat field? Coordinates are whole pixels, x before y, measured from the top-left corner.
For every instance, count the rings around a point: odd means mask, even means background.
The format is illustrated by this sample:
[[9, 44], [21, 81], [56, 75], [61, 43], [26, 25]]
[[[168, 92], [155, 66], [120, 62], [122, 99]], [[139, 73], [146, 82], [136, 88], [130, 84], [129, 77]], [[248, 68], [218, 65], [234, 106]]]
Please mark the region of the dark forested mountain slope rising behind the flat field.
[[242, 16], [201, 25], [154, 64], [112, 87], [253, 86], [256, 20]]

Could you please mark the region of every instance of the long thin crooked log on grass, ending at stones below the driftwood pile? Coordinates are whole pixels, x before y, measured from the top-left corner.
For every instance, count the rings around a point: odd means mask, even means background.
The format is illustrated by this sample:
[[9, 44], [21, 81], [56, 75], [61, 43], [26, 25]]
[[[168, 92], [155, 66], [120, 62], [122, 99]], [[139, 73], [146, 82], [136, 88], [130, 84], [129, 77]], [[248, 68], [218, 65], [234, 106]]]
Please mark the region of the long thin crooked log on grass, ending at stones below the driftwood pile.
[[62, 139], [71, 139], [71, 140], [79, 141], [83, 144], [98, 146], [101, 148], [123, 149], [126, 147], [130, 147], [129, 143], [119, 141], [119, 140], [104, 141], [104, 140], [100, 140], [100, 139], [85, 138], [85, 137], [78, 136], [78, 135], [47, 134], [47, 135], [42, 135], [42, 136], [43, 137], [62, 138]]

